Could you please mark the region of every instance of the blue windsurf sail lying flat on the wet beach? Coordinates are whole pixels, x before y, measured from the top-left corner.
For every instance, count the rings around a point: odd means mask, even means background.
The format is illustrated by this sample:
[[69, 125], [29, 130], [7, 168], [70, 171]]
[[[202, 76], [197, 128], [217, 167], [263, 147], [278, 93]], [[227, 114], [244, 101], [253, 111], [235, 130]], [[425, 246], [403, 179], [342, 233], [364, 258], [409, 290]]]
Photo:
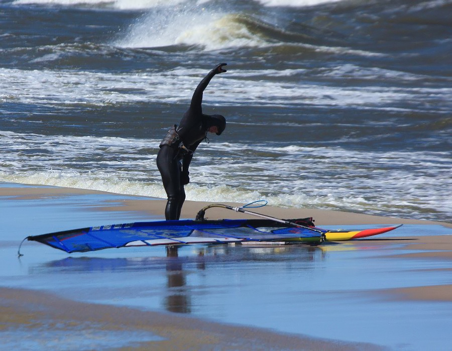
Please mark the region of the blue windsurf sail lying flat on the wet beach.
[[[298, 223], [304, 223], [303, 226]], [[326, 230], [311, 230], [303, 219], [287, 225], [271, 219], [163, 220], [101, 225], [58, 231], [26, 239], [67, 253], [133, 246], [291, 241], [321, 243]], [[20, 255], [20, 254], [19, 254]]]

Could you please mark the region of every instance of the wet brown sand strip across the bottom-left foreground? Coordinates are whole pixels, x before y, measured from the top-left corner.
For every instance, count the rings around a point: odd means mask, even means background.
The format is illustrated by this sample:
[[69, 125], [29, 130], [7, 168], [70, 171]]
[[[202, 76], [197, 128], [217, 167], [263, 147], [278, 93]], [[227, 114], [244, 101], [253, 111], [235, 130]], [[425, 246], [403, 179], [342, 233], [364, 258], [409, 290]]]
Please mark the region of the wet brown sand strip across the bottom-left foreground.
[[0, 332], [5, 328], [25, 327], [31, 333], [33, 329], [57, 325], [67, 331], [85, 329], [100, 335], [107, 331], [140, 330], [159, 336], [160, 340], [132, 342], [127, 349], [162, 351], [382, 349], [366, 343], [318, 340], [180, 314], [70, 301], [42, 292], [0, 288], [0, 296]]

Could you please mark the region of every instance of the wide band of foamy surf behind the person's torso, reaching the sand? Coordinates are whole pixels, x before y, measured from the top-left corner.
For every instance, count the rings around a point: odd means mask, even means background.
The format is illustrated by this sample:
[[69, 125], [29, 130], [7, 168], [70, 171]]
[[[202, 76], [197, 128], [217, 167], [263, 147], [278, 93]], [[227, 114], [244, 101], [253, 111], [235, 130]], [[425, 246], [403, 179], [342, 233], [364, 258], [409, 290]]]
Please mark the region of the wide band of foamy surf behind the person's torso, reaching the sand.
[[[0, 181], [165, 198], [158, 149], [149, 148], [158, 142], [0, 132]], [[261, 145], [255, 153], [244, 143], [201, 144], [186, 194], [188, 200], [264, 198], [275, 206], [394, 215], [406, 208], [450, 213], [452, 180], [444, 177], [449, 161], [447, 152]]]

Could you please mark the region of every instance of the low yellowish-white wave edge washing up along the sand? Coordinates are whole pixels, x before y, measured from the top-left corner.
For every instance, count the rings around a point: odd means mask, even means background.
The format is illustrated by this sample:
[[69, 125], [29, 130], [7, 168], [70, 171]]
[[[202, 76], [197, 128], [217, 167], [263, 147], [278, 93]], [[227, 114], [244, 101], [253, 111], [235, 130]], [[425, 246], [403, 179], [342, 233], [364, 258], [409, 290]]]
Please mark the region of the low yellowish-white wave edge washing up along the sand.
[[[415, 182], [417, 180], [417, 182]], [[432, 182], [428, 177], [418, 179], [401, 178], [400, 181], [414, 181], [413, 187], [420, 189]], [[65, 188], [105, 191], [124, 195], [149, 196], [166, 199], [165, 190], [160, 181], [140, 181], [127, 179], [118, 174], [79, 174], [75, 171], [41, 171], [20, 174], [0, 172], [0, 182], [19, 184], [40, 184]], [[342, 211], [354, 211], [367, 214], [447, 220], [452, 211], [452, 203], [446, 198], [426, 196], [418, 192], [411, 196], [397, 192], [387, 192], [385, 196], [368, 196], [347, 188], [319, 191], [322, 184], [318, 182], [312, 191], [291, 187], [290, 191], [275, 193], [266, 191], [265, 185], [260, 187], [241, 187], [225, 184], [196, 184], [185, 186], [186, 199], [206, 202], [239, 202], [249, 203], [256, 200], [267, 200], [271, 206], [285, 208], [320, 208]], [[327, 185], [326, 183], [323, 185]], [[380, 186], [393, 188], [393, 182], [382, 180]], [[369, 188], [371, 189], [371, 188]], [[368, 190], [369, 190], [368, 189]], [[414, 190], [414, 189], [413, 189]]]

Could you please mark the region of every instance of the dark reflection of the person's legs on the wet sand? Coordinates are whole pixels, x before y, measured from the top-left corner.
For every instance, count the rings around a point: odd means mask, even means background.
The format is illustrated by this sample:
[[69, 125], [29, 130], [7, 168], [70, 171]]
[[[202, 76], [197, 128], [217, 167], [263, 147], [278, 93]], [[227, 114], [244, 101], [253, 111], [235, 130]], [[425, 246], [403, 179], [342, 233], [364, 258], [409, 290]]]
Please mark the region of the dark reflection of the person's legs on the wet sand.
[[185, 273], [183, 272], [182, 262], [178, 258], [177, 250], [176, 246], [166, 248], [168, 295], [165, 298], [165, 308], [169, 312], [190, 313], [190, 297], [186, 289]]

